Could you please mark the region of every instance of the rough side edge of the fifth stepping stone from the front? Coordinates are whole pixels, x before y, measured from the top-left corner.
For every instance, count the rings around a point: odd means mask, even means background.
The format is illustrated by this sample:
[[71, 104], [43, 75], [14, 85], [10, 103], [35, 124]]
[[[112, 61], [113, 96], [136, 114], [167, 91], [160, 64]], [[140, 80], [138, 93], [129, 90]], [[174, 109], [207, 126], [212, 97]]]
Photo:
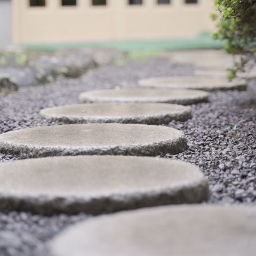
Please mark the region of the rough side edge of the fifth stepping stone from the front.
[[[86, 92], [85, 92], [86, 93]], [[79, 95], [79, 102], [80, 103], [107, 103], [107, 102], [138, 102], [138, 103], [170, 103], [170, 104], [180, 104], [180, 105], [192, 105], [192, 104], [197, 104], [197, 103], [203, 103], [203, 102], [208, 102], [208, 93], [205, 91], [201, 91], [201, 96], [190, 96], [186, 98], [176, 98], [176, 99], [171, 99], [171, 98], [98, 98], [94, 96], [84, 96], [85, 93], [81, 93]]]

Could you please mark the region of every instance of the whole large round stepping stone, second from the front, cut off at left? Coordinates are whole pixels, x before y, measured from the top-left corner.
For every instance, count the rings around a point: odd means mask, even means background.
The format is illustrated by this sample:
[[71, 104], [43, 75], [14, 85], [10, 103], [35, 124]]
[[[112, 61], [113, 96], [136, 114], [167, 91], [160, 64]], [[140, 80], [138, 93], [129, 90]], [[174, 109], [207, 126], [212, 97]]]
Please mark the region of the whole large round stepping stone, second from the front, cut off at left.
[[0, 164], [2, 210], [100, 214], [207, 197], [198, 167], [165, 158], [76, 156]]

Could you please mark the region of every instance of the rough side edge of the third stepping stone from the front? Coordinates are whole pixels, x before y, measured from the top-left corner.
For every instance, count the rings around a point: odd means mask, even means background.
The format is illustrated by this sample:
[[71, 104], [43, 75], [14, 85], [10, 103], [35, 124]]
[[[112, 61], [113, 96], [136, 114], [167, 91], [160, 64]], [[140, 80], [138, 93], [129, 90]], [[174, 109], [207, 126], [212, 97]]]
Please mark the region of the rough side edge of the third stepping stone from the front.
[[130, 155], [130, 156], [164, 156], [167, 153], [178, 154], [187, 148], [185, 134], [177, 130], [176, 138], [158, 142], [128, 146], [98, 147], [37, 147], [0, 141], [0, 153], [23, 158], [42, 158], [53, 156], [78, 155]]

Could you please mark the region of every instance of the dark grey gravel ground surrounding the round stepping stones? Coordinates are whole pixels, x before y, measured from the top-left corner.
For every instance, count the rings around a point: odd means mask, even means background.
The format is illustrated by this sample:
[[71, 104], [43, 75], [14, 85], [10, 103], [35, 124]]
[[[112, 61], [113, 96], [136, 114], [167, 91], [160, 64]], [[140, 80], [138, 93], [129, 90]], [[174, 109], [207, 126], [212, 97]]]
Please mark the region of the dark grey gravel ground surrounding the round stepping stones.
[[[79, 93], [85, 90], [132, 88], [138, 79], [146, 77], [191, 74], [191, 66], [156, 58], [90, 70], [79, 79], [22, 88], [7, 97], [0, 96], [0, 133], [57, 124], [39, 118], [39, 110], [78, 103]], [[209, 103], [193, 105], [192, 111], [192, 119], [168, 125], [185, 132], [188, 149], [166, 157], [199, 165], [209, 180], [210, 203], [256, 204], [256, 81], [247, 91], [212, 92]], [[0, 162], [15, 159], [0, 154]], [[51, 237], [87, 217], [0, 213], [0, 255], [47, 256], [45, 243]]]

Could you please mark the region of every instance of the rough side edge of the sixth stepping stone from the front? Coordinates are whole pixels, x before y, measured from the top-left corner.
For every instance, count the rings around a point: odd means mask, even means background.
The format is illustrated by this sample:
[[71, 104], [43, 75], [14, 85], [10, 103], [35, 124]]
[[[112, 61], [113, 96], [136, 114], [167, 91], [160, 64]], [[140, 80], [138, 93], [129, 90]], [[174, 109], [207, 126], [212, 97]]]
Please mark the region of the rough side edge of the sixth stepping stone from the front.
[[[144, 79], [141, 79], [138, 81], [139, 87], [142, 88], [151, 88], [151, 89], [181, 89], [178, 85], [162, 85], [162, 86], [154, 86], [147, 84], [143, 81]], [[182, 89], [191, 89], [191, 90], [204, 90], [204, 91], [216, 91], [216, 90], [246, 90], [247, 89], [247, 83], [246, 81], [243, 82], [233, 82], [232, 84], [226, 84], [226, 85], [215, 85], [212, 84], [211, 86], [205, 86], [204, 84], [198, 84], [196, 88], [193, 87], [186, 87], [187, 85], [184, 84], [184, 88]]]

